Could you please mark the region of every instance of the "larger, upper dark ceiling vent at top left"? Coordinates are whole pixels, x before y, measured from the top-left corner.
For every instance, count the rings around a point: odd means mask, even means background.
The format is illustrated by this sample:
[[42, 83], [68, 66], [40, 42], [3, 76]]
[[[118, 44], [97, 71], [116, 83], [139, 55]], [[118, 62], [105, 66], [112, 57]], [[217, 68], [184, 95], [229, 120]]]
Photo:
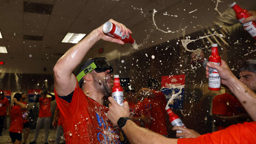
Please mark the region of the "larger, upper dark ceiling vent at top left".
[[53, 5], [24, 1], [24, 12], [50, 15]]

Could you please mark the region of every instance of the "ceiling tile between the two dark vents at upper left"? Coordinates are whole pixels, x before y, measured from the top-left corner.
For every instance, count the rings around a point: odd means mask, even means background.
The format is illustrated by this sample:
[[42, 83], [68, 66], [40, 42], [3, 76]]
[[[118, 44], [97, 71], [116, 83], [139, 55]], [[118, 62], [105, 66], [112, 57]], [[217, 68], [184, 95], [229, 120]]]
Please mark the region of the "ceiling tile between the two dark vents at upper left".
[[45, 30], [49, 18], [50, 15], [24, 13], [23, 26], [24, 28], [30, 28], [34, 30]]

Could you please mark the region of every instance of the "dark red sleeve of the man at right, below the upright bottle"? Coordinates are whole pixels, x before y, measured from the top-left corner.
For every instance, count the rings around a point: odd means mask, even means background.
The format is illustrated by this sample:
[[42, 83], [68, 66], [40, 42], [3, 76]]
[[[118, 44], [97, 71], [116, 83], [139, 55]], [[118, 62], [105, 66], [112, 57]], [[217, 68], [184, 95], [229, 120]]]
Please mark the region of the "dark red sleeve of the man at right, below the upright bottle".
[[226, 115], [227, 113], [227, 104], [225, 102], [224, 95], [218, 95], [213, 98], [213, 107], [212, 107], [213, 114], [221, 114]]

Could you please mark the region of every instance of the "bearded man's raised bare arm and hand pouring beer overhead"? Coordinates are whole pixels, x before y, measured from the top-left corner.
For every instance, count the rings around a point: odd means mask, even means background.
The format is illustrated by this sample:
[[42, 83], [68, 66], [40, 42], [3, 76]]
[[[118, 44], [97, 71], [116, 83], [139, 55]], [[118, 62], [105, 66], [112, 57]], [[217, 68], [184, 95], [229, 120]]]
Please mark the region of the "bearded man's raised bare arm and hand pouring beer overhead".
[[[123, 32], [123, 36], [124, 34], [128, 36], [128, 33], [132, 33], [123, 24], [112, 19], [109, 21], [120, 27], [120, 30]], [[54, 66], [54, 87], [58, 95], [66, 96], [74, 91], [76, 86], [76, 77], [72, 74], [72, 71], [79, 65], [86, 53], [98, 40], [103, 39], [105, 41], [124, 44], [124, 42], [119, 39], [106, 36], [102, 31], [102, 27], [103, 25], [92, 31], [75, 46], [71, 47]]]

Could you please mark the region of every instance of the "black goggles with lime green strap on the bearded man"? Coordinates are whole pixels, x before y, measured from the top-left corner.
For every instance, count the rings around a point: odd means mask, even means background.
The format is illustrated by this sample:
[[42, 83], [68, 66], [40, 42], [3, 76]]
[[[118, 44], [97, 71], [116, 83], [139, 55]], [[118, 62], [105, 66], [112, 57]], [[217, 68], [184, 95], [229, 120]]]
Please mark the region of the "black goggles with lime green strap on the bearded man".
[[106, 70], [110, 70], [112, 73], [114, 70], [112, 66], [107, 62], [107, 59], [104, 57], [91, 59], [91, 64], [82, 70], [77, 76], [76, 79], [80, 81], [83, 76], [90, 73], [92, 70], [95, 70], [97, 73], [101, 73]]

